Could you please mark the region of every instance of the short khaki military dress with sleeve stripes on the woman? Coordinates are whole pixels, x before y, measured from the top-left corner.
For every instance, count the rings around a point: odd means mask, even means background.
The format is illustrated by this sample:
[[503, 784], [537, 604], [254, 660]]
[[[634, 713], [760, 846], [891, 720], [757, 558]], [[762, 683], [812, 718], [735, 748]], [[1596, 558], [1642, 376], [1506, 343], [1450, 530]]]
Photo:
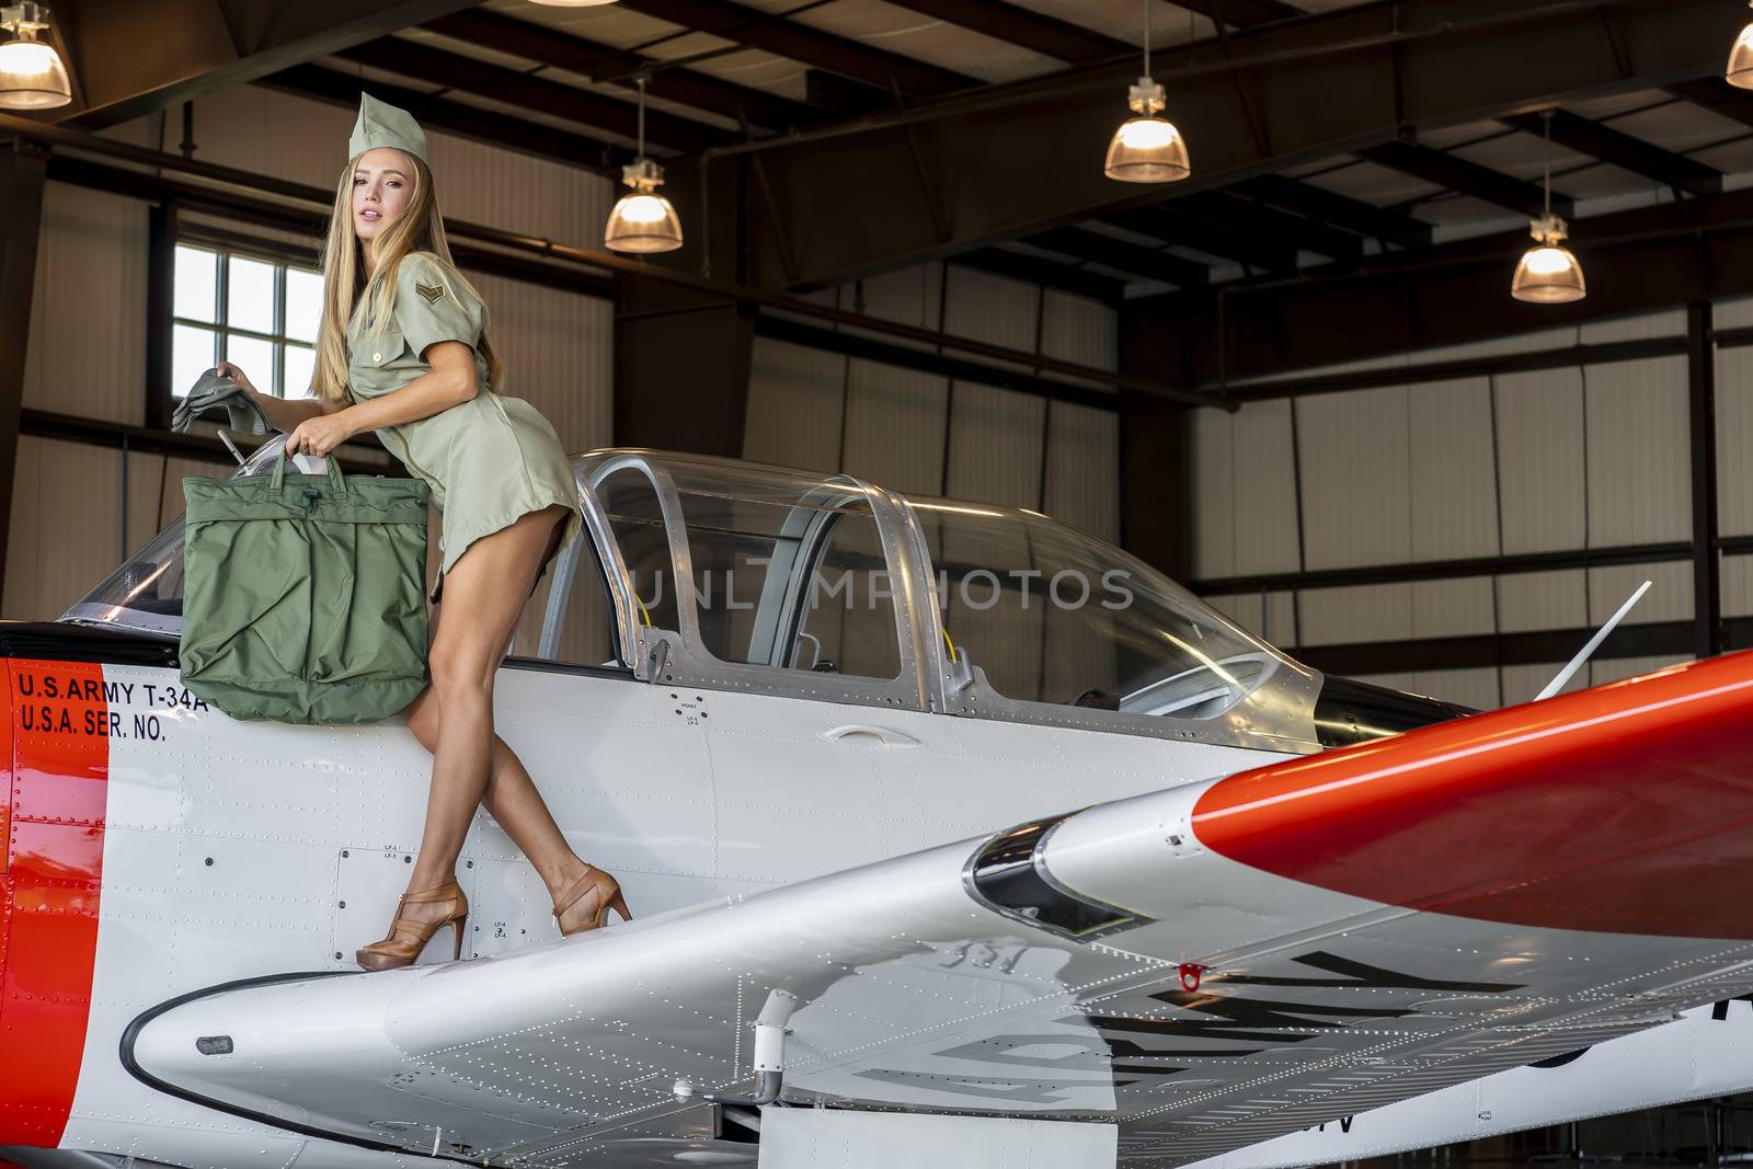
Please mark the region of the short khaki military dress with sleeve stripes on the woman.
[[[347, 379], [354, 401], [394, 393], [431, 370], [421, 356], [428, 345], [456, 340], [473, 349], [486, 310], [454, 268], [429, 252], [412, 252], [396, 270], [394, 319], [375, 331], [363, 317], [361, 308], [347, 329]], [[472, 400], [377, 431], [408, 473], [426, 480], [444, 514], [438, 538], [444, 559], [433, 601], [465, 549], [519, 515], [564, 503], [571, 515], [561, 543], [577, 538], [584, 526], [571, 463], [554, 426], [528, 401], [496, 394], [480, 352], [475, 352], [475, 370], [480, 393]]]

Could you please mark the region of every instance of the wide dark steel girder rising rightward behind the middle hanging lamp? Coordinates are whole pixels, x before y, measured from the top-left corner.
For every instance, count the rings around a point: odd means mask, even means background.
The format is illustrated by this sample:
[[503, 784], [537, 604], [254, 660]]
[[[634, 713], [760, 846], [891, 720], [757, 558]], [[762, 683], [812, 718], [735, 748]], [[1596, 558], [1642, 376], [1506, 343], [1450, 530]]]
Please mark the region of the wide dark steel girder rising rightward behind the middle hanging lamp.
[[[1723, 35], [1721, 0], [1397, 0], [1178, 46], [1152, 65], [1192, 147], [1194, 174], [1178, 188], [1213, 189], [1392, 142], [1402, 126], [1699, 77], [1720, 68]], [[1557, 65], [1502, 68], [1509, 40], [1539, 44]], [[1087, 65], [717, 151], [759, 154], [784, 209], [745, 214], [750, 279], [838, 284], [1164, 202], [1099, 163], [1136, 68]], [[917, 195], [915, 151], [938, 205]]]

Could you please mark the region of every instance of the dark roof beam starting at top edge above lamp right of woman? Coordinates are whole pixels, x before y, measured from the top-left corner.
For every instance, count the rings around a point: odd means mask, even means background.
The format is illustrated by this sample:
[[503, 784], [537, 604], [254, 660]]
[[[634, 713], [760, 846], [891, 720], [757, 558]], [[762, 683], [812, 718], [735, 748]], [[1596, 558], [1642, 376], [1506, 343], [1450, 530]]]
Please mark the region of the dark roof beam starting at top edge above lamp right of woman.
[[933, 96], [978, 86], [980, 81], [948, 68], [927, 65], [899, 53], [875, 49], [859, 40], [824, 33], [782, 16], [771, 16], [742, 4], [719, 0], [621, 0], [621, 7], [656, 16], [694, 32], [735, 40], [750, 49], [826, 68], [841, 77], [862, 81], [887, 91], [891, 81], [901, 93]]

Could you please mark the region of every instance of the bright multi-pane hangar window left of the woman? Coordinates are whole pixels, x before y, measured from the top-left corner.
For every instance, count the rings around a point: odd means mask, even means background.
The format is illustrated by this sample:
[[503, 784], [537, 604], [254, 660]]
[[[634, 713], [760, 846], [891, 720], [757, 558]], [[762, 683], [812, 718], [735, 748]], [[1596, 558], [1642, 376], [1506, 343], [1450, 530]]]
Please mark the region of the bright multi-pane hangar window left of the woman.
[[170, 393], [219, 361], [256, 389], [309, 398], [323, 319], [323, 273], [231, 245], [179, 242], [172, 275]]

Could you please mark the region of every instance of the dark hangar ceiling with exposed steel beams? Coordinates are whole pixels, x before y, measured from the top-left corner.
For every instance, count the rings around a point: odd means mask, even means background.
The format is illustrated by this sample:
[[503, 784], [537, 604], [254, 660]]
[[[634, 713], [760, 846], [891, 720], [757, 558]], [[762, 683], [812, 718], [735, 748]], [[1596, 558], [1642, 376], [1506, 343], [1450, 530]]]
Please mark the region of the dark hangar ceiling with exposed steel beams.
[[[1146, 9], [1194, 179], [1138, 191], [1094, 159]], [[1122, 300], [1520, 231], [1543, 109], [1579, 244], [1592, 216], [1718, 196], [1753, 170], [1753, 98], [1718, 79], [1741, 18], [1714, 0], [489, 0], [268, 84], [340, 102], [366, 79], [438, 124], [612, 168], [647, 74], [656, 156], [759, 159], [752, 282], [955, 256]]]

